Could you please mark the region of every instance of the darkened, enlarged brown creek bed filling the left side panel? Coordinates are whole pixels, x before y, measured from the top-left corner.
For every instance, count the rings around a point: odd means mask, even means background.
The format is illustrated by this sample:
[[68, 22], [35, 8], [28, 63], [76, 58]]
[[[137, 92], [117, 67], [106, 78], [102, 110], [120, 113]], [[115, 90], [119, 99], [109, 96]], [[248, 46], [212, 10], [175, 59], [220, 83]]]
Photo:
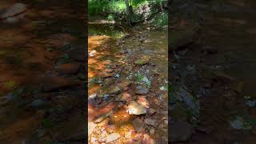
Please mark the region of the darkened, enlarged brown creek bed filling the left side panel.
[[22, 2], [0, 21], [0, 143], [84, 143], [84, 1]]

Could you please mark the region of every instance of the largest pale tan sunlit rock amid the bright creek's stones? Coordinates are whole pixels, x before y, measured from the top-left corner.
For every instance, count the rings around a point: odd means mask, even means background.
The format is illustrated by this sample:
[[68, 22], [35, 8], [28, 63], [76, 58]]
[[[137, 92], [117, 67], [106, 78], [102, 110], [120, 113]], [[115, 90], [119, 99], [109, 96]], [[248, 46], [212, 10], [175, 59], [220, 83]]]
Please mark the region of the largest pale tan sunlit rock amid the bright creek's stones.
[[146, 108], [137, 102], [130, 102], [128, 105], [128, 114], [133, 114], [133, 115], [140, 115], [140, 114], [146, 114]]

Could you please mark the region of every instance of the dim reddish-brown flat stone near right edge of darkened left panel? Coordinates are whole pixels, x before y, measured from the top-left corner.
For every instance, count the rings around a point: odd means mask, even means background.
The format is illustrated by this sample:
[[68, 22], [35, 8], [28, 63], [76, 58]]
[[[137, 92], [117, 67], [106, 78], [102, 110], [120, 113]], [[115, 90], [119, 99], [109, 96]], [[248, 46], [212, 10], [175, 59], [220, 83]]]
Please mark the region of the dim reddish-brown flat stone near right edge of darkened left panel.
[[79, 63], [65, 63], [58, 66], [58, 72], [61, 74], [78, 74], [80, 66]]

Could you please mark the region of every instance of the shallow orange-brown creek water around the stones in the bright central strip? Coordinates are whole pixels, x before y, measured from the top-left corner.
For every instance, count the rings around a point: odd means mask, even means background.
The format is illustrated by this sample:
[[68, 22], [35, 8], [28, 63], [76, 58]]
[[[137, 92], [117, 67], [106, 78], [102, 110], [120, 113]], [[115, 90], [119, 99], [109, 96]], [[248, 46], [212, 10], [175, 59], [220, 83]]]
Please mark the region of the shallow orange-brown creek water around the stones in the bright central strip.
[[[133, 66], [132, 63], [138, 58], [142, 58], [144, 55], [150, 56], [150, 64], [154, 65], [154, 72], [158, 75], [161, 75], [162, 79], [167, 79], [167, 65], [168, 65], [168, 53], [167, 53], [167, 34], [166, 32], [162, 32], [159, 30], [147, 30], [143, 27], [143, 30], [128, 30], [124, 29], [122, 26], [115, 26], [113, 24], [95, 24], [92, 23], [89, 25], [90, 37], [88, 39], [89, 44], [89, 55], [94, 52], [93, 56], [89, 56], [89, 95], [92, 96], [94, 94], [101, 94], [102, 91], [114, 90], [118, 83], [125, 83], [126, 78], [129, 75], [133, 75], [137, 73], [137, 70], [140, 70], [141, 66]], [[125, 38], [124, 38], [125, 37]], [[127, 50], [126, 53], [120, 53], [123, 50]], [[126, 60], [124, 62], [123, 60]], [[118, 66], [115, 66], [116, 63], [122, 62], [121, 69]], [[114, 68], [113, 68], [114, 65]], [[110, 78], [101, 79], [102, 71], [110, 69], [112, 66], [114, 70], [114, 76]], [[122, 66], [124, 66], [122, 68]], [[145, 67], [145, 66], [144, 66]], [[126, 69], [127, 70], [123, 70]], [[148, 69], [148, 68], [146, 68]], [[151, 72], [150, 72], [151, 73]], [[102, 81], [102, 83], [97, 83], [95, 81]], [[106, 84], [107, 83], [107, 84]], [[152, 89], [154, 94], [163, 94], [165, 98], [167, 98], [167, 92], [159, 90], [160, 86], [166, 86], [165, 82], [158, 83], [158, 80], [152, 79]], [[107, 86], [106, 86], [107, 85]], [[134, 86], [129, 86], [128, 90], [124, 90], [123, 95], [128, 95], [129, 97], [126, 101], [130, 101], [129, 98], [137, 99], [138, 96], [134, 94]], [[150, 95], [151, 93], [149, 93]], [[118, 97], [115, 95], [114, 97]], [[146, 97], [147, 94], [146, 94]], [[104, 99], [104, 97], [103, 97]], [[101, 100], [99, 100], [101, 101]], [[107, 100], [106, 100], [107, 101]], [[147, 98], [147, 101], [153, 103], [153, 99]], [[118, 134], [121, 134], [121, 138], [116, 141], [117, 143], [121, 142], [134, 142], [134, 138], [153, 138], [154, 140], [158, 140], [160, 142], [161, 139], [167, 138], [166, 134], [162, 134], [161, 130], [158, 130], [157, 127], [154, 127], [155, 134], [150, 134], [150, 136], [145, 136], [145, 134], [149, 133], [149, 131], [143, 131], [134, 133], [134, 126], [132, 122], [134, 118], [139, 118], [138, 116], [130, 115], [126, 111], [126, 105], [122, 102], [117, 102], [114, 100], [110, 100], [108, 105], [105, 105], [105, 100], [99, 102], [98, 106], [95, 106], [92, 103], [88, 103], [89, 105], [89, 121], [93, 122], [94, 118], [106, 114], [107, 111], [114, 110], [114, 114], [110, 114], [110, 118], [106, 118], [104, 121], [110, 121], [105, 127], [108, 130], [111, 124], [114, 124], [115, 131]], [[163, 107], [167, 106], [167, 102], [163, 101]], [[112, 104], [111, 104], [112, 103]], [[121, 106], [121, 107], [120, 107]], [[118, 108], [120, 107], [120, 108]], [[154, 104], [150, 104], [151, 108], [155, 110], [161, 110], [154, 106]], [[166, 107], [165, 107], [166, 108]], [[166, 109], [165, 109], [166, 110]], [[154, 115], [153, 118], [168, 118], [167, 114]], [[104, 122], [103, 121], [103, 122]], [[101, 129], [101, 124], [98, 126], [94, 133], [90, 138], [104, 138], [97, 134], [98, 129]], [[104, 126], [103, 126], [104, 127]], [[150, 127], [148, 127], [150, 128]], [[123, 134], [126, 132], [131, 132], [130, 138], [124, 138]], [[105, 132], [102, 132], [105, 133]], [[137, 135], [136, 135], [137, 134]], [[139, 136], [141, 134], [141, 136]], [[143, 135], [144, 134], [144, 135]], [[165, 136], [164, 136], [165, 135]], [[160, 140], [160, 141], [159, 141]]]

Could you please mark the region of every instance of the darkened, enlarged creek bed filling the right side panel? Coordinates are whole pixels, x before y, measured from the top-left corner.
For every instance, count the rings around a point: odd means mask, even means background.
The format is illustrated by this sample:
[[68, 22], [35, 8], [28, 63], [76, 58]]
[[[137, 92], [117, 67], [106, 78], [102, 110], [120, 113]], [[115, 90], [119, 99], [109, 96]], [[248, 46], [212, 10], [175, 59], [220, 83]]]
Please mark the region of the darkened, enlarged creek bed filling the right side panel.
[[174, 1], [170, 139], [256, 141], [254, 1]]

